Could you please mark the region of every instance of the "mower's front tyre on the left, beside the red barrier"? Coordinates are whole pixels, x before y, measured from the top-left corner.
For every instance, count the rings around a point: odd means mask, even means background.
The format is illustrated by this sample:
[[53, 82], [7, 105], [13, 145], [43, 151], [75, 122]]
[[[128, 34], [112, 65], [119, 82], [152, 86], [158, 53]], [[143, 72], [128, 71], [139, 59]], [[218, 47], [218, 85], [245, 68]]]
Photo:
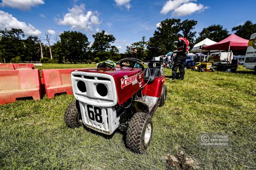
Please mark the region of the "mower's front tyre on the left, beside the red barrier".
[[70, 103], [65, 111], [64, 121], [68, 127], [80, 127], [83, 124], [79, 101], [75, 100]]

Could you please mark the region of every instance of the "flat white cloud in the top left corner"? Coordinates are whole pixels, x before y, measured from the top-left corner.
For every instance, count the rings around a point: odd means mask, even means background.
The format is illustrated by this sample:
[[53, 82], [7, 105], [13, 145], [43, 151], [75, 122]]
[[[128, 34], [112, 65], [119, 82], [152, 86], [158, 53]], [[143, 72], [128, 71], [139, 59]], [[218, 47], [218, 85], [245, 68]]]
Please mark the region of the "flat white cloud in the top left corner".
[[2, 0], [0, 6], [8, 6], [20, 10], [29, 10], [32, 6], [43, 5], [44, 0]]

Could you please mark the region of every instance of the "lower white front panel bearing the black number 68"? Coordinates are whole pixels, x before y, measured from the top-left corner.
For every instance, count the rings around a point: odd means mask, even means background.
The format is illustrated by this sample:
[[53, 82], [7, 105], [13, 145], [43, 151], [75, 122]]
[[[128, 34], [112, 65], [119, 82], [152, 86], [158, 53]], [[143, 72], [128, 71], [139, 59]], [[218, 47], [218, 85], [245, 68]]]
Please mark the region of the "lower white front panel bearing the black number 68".
[[82, 120], [85, 126], [100, 133], [112, 134], [119, 127], [114, 107], [99, 107], [79, 101]]

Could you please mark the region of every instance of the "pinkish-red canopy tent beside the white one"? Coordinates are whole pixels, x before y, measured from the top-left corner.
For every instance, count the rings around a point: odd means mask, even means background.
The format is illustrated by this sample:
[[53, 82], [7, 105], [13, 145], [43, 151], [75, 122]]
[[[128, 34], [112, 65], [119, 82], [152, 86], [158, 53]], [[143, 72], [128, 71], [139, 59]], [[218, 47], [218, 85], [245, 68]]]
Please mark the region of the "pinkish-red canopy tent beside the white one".
[[[249, 40], [245, 40], [236, 34], [231, 34], [229, 37], [225, 38], [224, 40], [217, 42], [213, 45], [207, 45], [204, 46], [203, 50], [226, 50], [228, 51], [227, 56], [229, 56], [229, 52], [231, 50], [246, 50], [248, 46]], [[229, 58], [229, 61], [231, 60], [231, 55]]]

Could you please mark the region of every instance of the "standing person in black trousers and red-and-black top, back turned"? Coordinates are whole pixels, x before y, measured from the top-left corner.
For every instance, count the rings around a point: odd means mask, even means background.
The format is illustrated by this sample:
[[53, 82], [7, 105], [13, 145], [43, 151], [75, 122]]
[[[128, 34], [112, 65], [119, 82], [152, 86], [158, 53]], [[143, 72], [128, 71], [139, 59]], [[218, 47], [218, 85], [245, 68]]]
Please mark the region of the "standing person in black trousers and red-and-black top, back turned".
[[[186, 55], [189, 53], [189, 49], [194, 47], [194, 44], [189, 42], [182, 35], [178, 35], [179, 41], [177, 43], [177, 54], [174, 60], [174, 65], [172, 67], [172, 78], [171, 79], [184, 79], [185, 75], [185, 62]], [[190, 47], [190, 48], [189, 48]], [[177, 77], [177, 69], [179, 68], [180, 77]]]

